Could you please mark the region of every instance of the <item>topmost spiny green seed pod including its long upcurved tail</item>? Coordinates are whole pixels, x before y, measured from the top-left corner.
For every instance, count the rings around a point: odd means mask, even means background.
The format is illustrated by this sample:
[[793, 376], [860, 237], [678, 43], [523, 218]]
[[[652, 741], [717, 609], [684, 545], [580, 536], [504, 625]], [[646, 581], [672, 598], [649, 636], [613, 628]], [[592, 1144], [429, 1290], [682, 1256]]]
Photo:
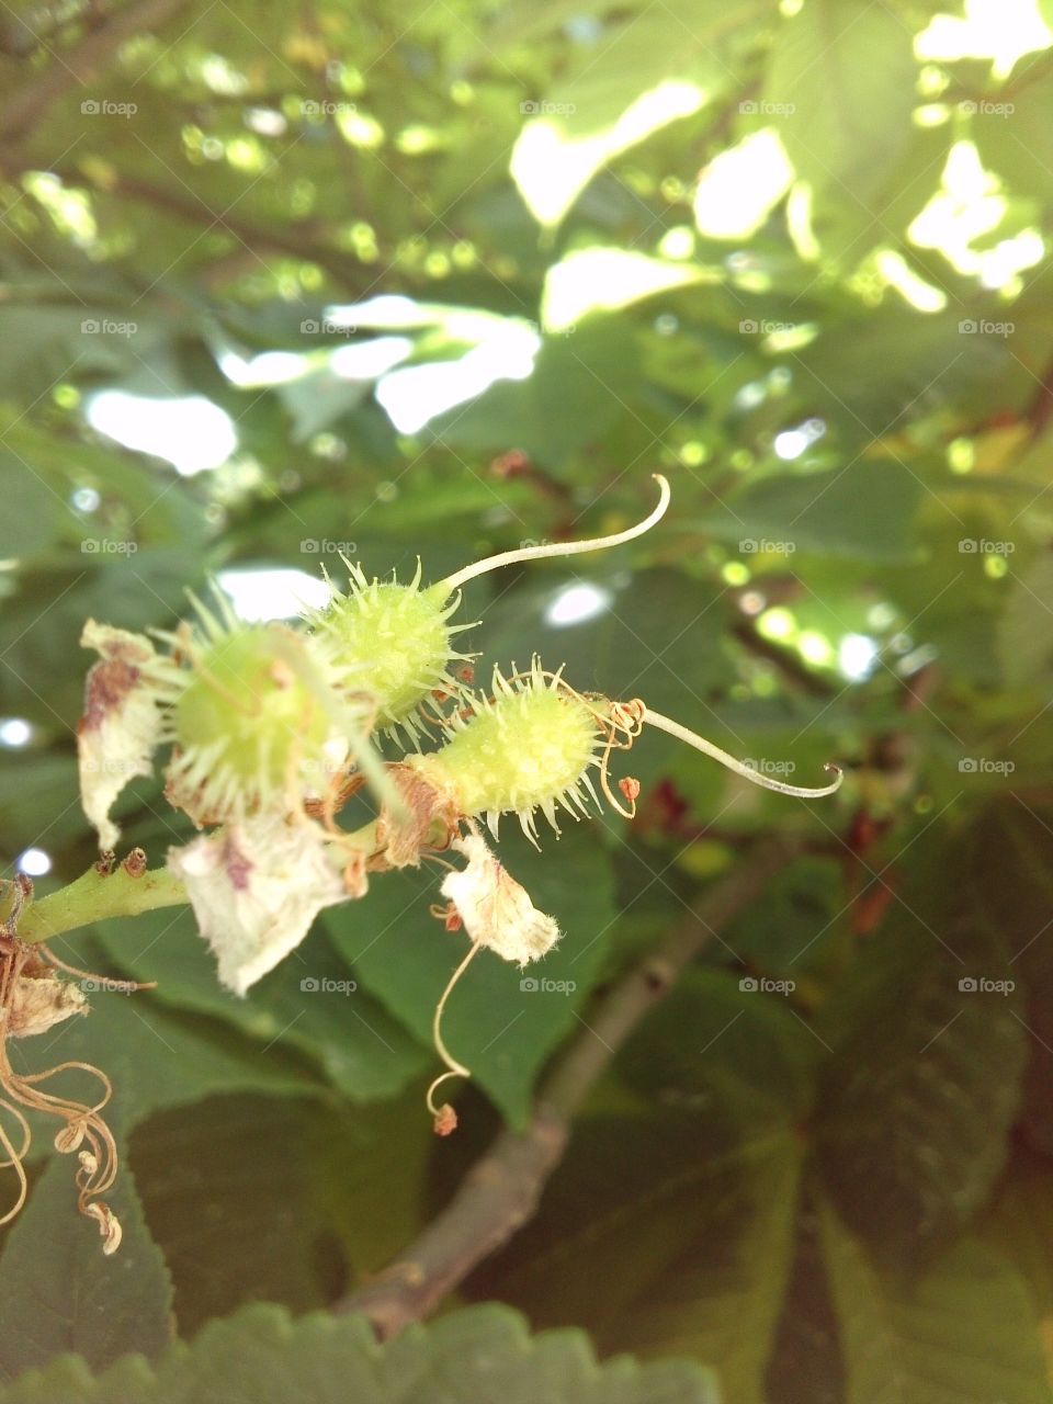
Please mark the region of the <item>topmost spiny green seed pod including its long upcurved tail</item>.
[[306, 621], [329, 651], [334, 665], [348, 675], [348, 687], [372, 699], [375, 726], [389, 733], [402, 729], [416, 744], [425, 727], [424, 708], [434, 698], [465, 696], [458, 664], [472, 654], [458, 653], [453, 636], [472, 625], [451, 625], [461, 602], [461, 585], [501, 566], [550, 556], [619, 546], [643, 535], [664, 515], [670, 487], [656, 475], [658, 504], [640, 522], [611, 536], [588, 541], [524, 546], [473, 562], [435, 585], [421, 590], [421, 567], [409, 585], [397, 580], [369, 580], [359, 566], [344, 559], [348, 592], [334, 592], [323, 609], [307, 611]]

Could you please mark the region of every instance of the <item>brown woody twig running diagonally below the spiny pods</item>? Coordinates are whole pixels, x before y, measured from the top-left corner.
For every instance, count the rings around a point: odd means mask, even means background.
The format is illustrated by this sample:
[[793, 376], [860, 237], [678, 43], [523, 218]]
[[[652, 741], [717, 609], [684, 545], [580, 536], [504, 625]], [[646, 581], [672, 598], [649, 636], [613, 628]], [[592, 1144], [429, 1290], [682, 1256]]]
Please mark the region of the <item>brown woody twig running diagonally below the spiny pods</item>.
[[597, 1001], [546, 1077], [526, 1127], [501, 1132], [417, 1241], [334, 1310], [361, 1313], [379, 1339], [389, 1339], [432, 1311], [511, 1238], [534, 1216], [576, 1112], [618, 1049], [709, 939], [797, 852], [796, 842], [764, 842], [709, 887], [691, 915]]

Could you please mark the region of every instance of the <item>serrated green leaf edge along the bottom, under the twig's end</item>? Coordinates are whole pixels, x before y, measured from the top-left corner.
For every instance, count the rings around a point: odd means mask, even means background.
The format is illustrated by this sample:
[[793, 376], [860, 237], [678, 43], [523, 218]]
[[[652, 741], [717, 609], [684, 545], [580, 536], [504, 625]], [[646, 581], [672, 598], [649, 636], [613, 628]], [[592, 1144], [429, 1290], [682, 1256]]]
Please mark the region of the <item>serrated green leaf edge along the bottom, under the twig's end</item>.
[[696, 1365], [595, 1362], [580, 1331], [534, 1339], [500, 1306], [475, 1307], [379, 1346], [354, 1317], [307, 1316], [257, 1306], [205, 1327], [149, 1372], [125, 1360], [93, 1380], [80, 1360], [0, 1393], [0, 1404], [719, 1404]]

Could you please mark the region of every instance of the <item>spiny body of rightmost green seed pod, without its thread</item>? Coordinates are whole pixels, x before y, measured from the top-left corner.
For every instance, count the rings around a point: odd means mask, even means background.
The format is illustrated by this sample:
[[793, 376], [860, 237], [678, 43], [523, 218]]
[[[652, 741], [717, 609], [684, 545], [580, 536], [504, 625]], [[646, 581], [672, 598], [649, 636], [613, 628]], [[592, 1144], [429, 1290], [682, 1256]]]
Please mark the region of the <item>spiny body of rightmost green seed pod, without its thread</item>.
[[468, 715], [452, 719], [439, 751], [406, 764], [449, 795], [459, 813], [486, 816], [494, 837], [500, 816], [515, 813], [536, 838], [538, 809], [559, 833], [557, 804], [578, 819], [585, 796], [597, 799], [588, 771], [600, 764], [607, 703], [573, 692], [538, 658], [529, 674], [511, 680], [494, 670], [493, 689], [493, 698], [473, 699]]

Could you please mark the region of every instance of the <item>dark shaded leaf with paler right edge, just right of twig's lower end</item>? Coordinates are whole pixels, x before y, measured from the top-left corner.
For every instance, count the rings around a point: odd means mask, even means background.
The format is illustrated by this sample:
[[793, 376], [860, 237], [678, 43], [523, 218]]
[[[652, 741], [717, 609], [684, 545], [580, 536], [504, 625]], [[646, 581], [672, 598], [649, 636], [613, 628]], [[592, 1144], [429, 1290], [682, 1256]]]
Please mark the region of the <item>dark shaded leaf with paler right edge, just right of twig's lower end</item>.
[[[539, 1325], [584, 1324], [601, 1351], [691, 1355], [722, 1397], [761, 1404], [792, 1252], [799, 1148], [736, 1144], [696, 1113], [581, 1127], [546, 1209], [482, 1273]], [[602, 1290], [597, 1285], [602, 1283]]]

